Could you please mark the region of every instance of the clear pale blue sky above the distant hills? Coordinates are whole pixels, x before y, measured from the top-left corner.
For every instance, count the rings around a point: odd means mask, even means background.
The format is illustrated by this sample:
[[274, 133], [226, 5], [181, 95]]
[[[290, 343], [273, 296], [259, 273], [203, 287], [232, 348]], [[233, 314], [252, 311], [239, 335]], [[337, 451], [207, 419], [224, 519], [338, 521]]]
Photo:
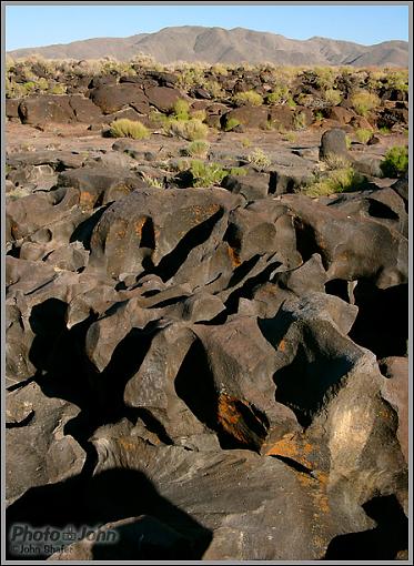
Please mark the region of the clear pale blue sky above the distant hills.
[[408, 39], [407, 6], [7, 6], [6, 49], [153, 32], [169, 26], [218, 26], [373, 44]]

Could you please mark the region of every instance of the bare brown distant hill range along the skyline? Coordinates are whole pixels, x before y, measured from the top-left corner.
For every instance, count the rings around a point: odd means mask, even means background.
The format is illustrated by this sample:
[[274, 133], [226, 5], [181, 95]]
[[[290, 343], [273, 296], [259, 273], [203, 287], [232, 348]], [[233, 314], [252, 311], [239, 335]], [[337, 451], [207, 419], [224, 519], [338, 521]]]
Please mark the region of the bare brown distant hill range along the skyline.
[[9, 51], [14, 58], [39, 53], [47, 59], [101, 59], [125, 61], [145, 53], [160, 63], [263, 63], [280, 65], [408, 67], [408, 43], [385, 41], [361, 46], [349, 41], [311, 38], [300, 41], [244, 28], [225, 30], [183, 26], [130, 38], [97, 38], [68, 44]]

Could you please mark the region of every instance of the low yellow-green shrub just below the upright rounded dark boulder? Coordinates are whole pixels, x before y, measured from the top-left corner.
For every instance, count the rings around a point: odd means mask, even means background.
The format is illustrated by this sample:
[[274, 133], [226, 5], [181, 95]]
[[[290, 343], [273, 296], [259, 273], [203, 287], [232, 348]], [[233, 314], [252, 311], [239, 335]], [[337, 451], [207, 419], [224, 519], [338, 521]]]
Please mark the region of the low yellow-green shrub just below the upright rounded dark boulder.
[[352, 165], [346, 165], [329, 171], [322, 176], [315, 175], [301, 192], [307, 196], [329, 196], [334, 193], [359, 191], [365, 183], [366, 179], [363, 175], [357, 173]]

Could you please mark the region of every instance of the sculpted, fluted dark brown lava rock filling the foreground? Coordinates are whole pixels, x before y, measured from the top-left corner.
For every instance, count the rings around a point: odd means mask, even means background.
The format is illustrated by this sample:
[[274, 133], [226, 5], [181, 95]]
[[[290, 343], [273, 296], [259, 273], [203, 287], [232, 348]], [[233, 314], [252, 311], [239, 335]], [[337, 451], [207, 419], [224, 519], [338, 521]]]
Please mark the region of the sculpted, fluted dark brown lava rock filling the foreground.
[[80, 534], [37, 558], [404, 556], [407, 180], [313, 200], [300, 150], [185, 189], [139, 141], [9, 156], [8, 528]]

